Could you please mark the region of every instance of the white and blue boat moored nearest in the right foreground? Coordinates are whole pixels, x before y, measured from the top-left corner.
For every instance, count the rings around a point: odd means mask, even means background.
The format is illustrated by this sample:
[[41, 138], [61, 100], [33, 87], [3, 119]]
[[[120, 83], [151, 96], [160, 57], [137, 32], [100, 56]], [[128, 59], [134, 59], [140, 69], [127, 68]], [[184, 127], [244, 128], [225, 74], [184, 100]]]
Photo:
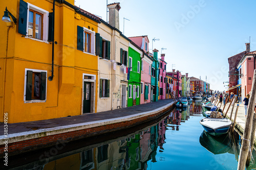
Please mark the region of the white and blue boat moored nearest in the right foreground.
[[205, 132], [210, 135], [222, 135], [228, 132], [232, 122], [227, 118], [203, 118], [200, 120]]

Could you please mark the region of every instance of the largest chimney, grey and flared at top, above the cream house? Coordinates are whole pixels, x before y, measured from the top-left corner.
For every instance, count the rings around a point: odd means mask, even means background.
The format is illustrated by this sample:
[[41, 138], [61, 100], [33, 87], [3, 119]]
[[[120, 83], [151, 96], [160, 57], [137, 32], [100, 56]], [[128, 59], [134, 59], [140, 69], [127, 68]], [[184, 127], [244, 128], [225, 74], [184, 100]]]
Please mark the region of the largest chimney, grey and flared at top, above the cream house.
[[109, 4], [109, 23], [112, 27], [119, 30], [119, 10], [121, 9], [120, 3]]

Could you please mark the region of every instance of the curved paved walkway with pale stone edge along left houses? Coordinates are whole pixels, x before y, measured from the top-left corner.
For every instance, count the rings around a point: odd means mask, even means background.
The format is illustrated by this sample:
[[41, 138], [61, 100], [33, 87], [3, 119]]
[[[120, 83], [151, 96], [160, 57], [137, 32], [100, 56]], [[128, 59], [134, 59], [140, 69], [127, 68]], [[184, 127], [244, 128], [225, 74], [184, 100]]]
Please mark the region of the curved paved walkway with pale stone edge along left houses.
[[[17, 133], [32, 132], [36, 130], [49, 129], [75, 126], [82, 123], [94, 123], [94, 122], [104, 122], [104, 120], [115, 119], [120, 117], [127, 117], [131, 115], [136, 115], [140, 113], [148, 113], [151, 111], [160, 110], [170, 103], [173, 103], [172, 99], [159, 100], [158, 102], [147, 103], [143, 105], [137, 105], [133, 107], [126, 107], [122, 109], [83, 114], [70, 117], [60, 117], [47, 120], [38, 120], [32, 122], [15, 123], [8, 124], [8, 136], [14, 136]], [[0, 138], [4, 137], [4, 123], [0, 123]]]

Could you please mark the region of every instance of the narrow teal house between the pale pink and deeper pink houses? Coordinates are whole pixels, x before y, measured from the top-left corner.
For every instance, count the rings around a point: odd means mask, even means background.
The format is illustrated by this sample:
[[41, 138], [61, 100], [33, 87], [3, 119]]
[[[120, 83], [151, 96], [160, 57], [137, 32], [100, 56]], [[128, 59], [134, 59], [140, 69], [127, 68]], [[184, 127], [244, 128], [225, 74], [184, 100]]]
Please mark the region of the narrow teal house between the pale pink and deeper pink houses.
[[158, 50], [153, 50], [153, 64], [151, 66], [151, 102], [158, 101], [158, 93], [159, 93], [159, 62], [158, 62]]

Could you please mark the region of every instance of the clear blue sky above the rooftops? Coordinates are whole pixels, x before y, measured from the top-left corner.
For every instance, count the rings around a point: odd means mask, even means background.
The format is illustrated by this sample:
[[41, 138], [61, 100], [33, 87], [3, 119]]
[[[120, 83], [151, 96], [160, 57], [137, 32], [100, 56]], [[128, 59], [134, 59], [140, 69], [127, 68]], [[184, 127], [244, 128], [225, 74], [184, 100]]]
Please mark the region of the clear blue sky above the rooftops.
[[[119, 2], [119, 30], [126, 37], [147, 35], [154, 47], [167, 48], [167, 71], [182, 71], [210, 83], [212, 90], [226, 89], [227, 58], [245, 51], [245, 43], [256, 50], [256, 1], [212, 0], [109, 0]], [[106, 0], [76, 0], [76, 6], [106, 20]], [[226, 83], [227, 85], [227, 83]]]

